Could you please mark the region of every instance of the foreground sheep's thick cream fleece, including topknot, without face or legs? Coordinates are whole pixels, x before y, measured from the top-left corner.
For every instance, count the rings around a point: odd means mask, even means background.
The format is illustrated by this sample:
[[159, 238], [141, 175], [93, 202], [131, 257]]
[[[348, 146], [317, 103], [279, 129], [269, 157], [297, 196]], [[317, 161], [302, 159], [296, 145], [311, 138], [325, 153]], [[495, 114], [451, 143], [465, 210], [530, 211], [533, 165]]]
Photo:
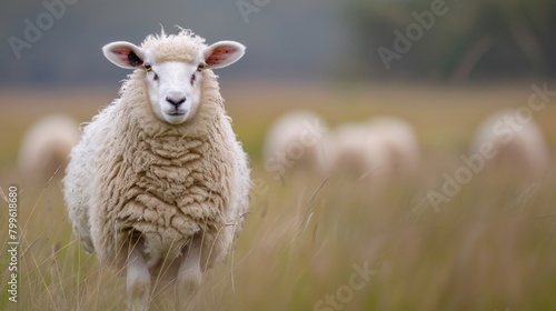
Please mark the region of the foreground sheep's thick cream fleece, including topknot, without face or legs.
[[[187, 51], [202, 42], [182, 31], [148, 37], [142, 46], [159, 59], [188, 61], [193, 53]], [[153, 267], [181, 255], [198, 234], [201, 267], [210, 268], [228, 253], [248, 209], [247, 156], [211, 70], [202, 71], [197, 116], [179, 126], [155, 117], [143, 79], [143, 70], [131, 73], [72, 150], [64, 183], [73, 230], [117, 269], [140, 240]]]

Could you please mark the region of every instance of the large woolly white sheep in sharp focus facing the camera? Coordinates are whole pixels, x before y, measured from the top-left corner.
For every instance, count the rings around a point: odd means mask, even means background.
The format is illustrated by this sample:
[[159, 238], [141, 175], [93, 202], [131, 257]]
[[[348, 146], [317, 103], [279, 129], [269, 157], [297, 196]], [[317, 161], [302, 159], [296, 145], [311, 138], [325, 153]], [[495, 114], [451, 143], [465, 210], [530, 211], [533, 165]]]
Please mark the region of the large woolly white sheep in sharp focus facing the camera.
[[102, 51], [133, 71], [72, 149], [64, 200], [86, 251], [126, 271], [132, 308], [146, 310], [152, 280], [193, 293], [242, 228], [250, 169], [212, 69], [245, 47], [180, 29]]

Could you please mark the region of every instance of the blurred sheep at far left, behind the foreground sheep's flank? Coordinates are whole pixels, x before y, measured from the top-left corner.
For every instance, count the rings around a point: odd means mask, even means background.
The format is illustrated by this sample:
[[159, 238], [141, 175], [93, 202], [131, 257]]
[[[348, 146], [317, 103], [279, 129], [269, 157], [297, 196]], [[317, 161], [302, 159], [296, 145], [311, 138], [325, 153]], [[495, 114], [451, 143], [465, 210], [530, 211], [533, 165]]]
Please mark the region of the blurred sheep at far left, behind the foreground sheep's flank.
[[63, 114], [39, 120], [26, 133], [18, 157], [18, 170], [32, 181], [46, 181], [68, 164], [71, 148], [79, 142], [79, 126]]

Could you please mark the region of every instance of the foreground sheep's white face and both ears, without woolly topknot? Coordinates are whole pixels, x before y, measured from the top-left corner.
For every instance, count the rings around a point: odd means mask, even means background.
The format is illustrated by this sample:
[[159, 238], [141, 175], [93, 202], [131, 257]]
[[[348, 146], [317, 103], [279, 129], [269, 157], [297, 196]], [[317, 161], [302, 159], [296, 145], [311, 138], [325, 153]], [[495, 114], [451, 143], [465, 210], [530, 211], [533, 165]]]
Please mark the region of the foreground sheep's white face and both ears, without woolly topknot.
[[105, 56], [122, 68], [145, 70], [145, 83], [155, 116], [170, 124], [191, 120], [201, 104], [202, 70], [227, 67], [245, 53], [234, 41], [220, 41], [199, 50], [192, 61], [161, 61], [156, 51], [129, 42], [113, 42], [102, 48]]

